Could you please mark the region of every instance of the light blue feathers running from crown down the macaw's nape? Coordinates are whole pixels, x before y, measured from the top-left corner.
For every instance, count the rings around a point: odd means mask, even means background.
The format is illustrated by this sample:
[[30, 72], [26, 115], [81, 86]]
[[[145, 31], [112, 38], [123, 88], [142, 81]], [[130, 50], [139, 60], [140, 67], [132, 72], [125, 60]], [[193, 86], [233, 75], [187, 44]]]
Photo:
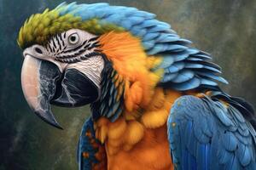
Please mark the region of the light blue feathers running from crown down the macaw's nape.
[[[139, 11], [137, 8], [109, 6], [107, 3], [84, 5], [83, 8], [80, 5], [76, 5], [75, 8], [72, 3], [67, 7], [65, 6], [64, 12], [61, 11], [61, 14], [67, 14], [72, 10], [73, 14], [82, 16], [83, 20], [97, 18], [121, 26], [134, 36], [140, 37], [143, 48], [148, 55], [163, 57], [162, 64], [158, 69], [164, 68], [166, 70], [161, 81], [165, 88], [189, 90], [205, 87], [204, 85], [217, 87], [217, 82], [227, 83], [223, 77], [218, 76], [218, 73], [220, 73], [219, 66], [207, 61], [211, 59], [209, 54], [189, 47], [191, 43], [189, 40], [180, 38], [169, 24], [156, 20], [154, 14]], [[83, 13], [84, 11], [86, 13]], [[177, 65], [184, 66], [181, 68]], [[183, 69], [189, 71], [191, 75], [195, 75], [195, 79], [187, 80], [187, 83], [194, 82], [194, 85], [186, 84], [185, 81], [180, 79], [180, 77], [183, 77]], [[177, 72], [177, 77], [171, 78], [168, 71], [170, 73]], [[205, 73], [206, 71], [207, 73]]]

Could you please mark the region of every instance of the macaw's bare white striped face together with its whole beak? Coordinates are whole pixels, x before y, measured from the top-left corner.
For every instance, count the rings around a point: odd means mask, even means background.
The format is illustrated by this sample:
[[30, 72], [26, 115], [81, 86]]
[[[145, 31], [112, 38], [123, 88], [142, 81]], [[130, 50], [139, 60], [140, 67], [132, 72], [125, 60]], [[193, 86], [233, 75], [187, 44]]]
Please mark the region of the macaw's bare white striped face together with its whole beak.
[[24, 50], [22, 89], [32, 110], [44, 121], [60, 127], [49, 104], [74, 107], [99, 98], [104, 58], [96, 39], [87, 31], [70, 29], [51, 37], [47, 44]]

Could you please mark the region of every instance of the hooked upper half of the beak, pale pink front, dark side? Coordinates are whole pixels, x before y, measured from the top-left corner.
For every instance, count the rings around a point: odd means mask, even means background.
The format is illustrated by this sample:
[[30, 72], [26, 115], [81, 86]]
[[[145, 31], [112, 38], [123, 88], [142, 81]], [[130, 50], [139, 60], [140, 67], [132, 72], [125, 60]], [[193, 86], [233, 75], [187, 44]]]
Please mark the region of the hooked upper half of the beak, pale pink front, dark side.
[[21, 70], [21, 86], [26, 102], [40, 118], [50, 125], [62, 128], [53, 116], [49, 101], [55, 95], [55, 83], [61, 71], [48, 61], [26, 55]]

